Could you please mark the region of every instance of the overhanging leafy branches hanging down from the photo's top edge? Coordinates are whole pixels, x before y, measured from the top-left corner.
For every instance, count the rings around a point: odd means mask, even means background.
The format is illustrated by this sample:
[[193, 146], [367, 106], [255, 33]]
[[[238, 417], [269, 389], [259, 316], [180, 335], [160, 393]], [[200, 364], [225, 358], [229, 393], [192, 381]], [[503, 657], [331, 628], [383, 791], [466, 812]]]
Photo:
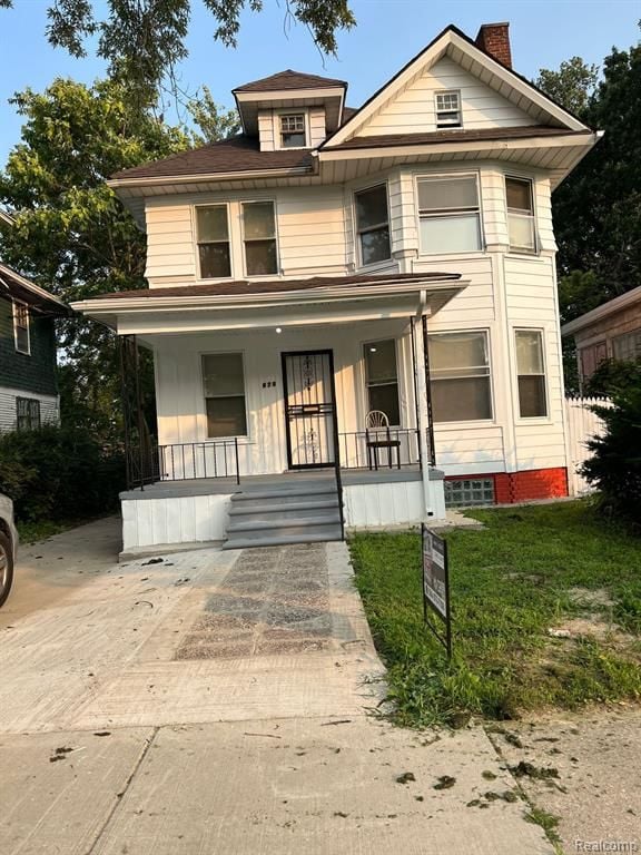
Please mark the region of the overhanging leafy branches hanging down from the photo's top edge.
[[[75, 57], [87, 53], [97, 39], [97, 53], [111, 77], [129, 81], [139, 102], [155, 100], [164, 80], [171, 79], [187, 55], [185, 45], [194, 0], [51, 0], [47, 37]], [[236, 47], [240, 16], [259, 12], [263, 0], [204, 0], [214, 19], [214, 38]], [[0, 0], [9, 8], [12, 0]], [[336, 53], [336, 31], [356, 23], [347, 0], [285, 0], [286, 21], [306, 27], [319, 50]], [[140, 100], [140, 98], [142, 100]], [[145, 100], [147, 99], [147, 100]]]

